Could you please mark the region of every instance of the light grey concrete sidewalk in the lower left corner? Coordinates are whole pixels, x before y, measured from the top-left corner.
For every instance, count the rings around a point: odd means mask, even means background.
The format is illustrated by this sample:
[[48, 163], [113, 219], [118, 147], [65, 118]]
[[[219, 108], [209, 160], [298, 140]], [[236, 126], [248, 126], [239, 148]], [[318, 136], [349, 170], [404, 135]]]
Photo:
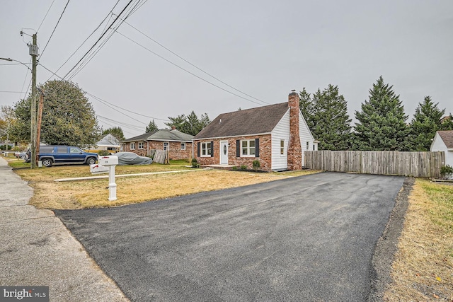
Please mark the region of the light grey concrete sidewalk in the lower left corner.
[[129, 301], [0, 157], [0, 286], [49, 286], [50, 301]]

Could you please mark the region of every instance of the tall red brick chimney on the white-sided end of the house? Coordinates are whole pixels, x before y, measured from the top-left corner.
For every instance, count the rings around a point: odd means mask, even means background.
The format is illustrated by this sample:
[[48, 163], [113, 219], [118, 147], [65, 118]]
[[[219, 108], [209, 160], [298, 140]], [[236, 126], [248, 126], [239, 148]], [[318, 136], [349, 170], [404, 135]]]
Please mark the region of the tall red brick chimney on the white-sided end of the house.
[[288, 169], [302, 170], [302, 146], [299, 136], [299, 95], [292, 91], [288, 95], [289, 106], [289, 142]]

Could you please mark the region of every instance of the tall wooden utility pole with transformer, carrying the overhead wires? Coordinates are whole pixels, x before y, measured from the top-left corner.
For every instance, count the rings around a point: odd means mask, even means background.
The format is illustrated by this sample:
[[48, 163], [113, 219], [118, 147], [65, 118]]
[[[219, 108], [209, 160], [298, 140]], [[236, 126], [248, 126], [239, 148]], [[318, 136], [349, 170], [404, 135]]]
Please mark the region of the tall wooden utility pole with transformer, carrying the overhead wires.
[[28, 53], [33, 58], [31, 71], [31, 126], [30, 126], [30, 168], [36, 168], [36, 57], [38, 57], [38, 42], [36, 33], [33, 35], [33, 44], [28, 45]]

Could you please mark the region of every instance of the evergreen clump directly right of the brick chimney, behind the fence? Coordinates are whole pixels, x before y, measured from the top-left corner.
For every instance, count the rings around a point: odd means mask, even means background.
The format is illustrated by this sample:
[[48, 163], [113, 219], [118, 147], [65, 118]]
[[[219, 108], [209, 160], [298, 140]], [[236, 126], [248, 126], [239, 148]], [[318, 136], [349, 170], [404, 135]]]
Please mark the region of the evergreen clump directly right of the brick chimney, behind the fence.
[[299, 93], [299, 108], [311, 134], [319, 143], [320, 150], [347, 150], [349, 148], [351, 119], [348, 106], [338, 86], [329, 84], [326, 89], [318, 89], [313, 97], [305, 88]]

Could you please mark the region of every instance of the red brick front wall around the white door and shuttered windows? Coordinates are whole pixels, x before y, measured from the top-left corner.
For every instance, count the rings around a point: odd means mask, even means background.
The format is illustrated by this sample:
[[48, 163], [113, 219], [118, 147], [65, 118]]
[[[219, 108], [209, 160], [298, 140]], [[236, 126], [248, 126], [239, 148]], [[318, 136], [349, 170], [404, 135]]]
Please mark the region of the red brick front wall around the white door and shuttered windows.
[[[259, 146], [259, 157], [236, 157], [236, 140], [242, 139], [260, 139], [260, 146]], [[197, 156], [197, 148], [198, 142], [214, 142], [214, 156], [212, 157], [198, 157]], [[228, 164], [229, 165], [236, 165], [237, 167], [241, 167], [241, 165], [246, 165], [248, 169], [253, 168], [253, 161], [257, 160], [260, 161], [260, 170], [270, 171], [271, 170], [271, 153], [272, 153], [272, 146], [270, 141], [270, 134], [268, 135], [258, 135], [258, 136], [251, 136], [251, 137], [233, 137], [233, 138], [225, 138], [225, 139], [203, 139], [200, 141], [195, 141], [194, 143], [194, 154], [195, 158], [197, 158], [198, 163], [200, 165], [219, 165], [220, 163], [220, 141], [228, 141]]]

